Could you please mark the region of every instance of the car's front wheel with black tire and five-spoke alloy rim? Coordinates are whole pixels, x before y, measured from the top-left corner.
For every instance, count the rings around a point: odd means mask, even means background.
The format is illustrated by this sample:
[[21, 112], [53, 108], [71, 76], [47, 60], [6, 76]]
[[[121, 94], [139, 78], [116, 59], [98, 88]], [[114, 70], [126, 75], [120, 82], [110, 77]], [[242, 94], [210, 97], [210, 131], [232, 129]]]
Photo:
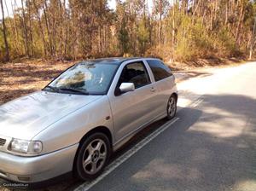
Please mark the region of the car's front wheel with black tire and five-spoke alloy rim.
[[95, 179], [108, 164], [111, 151], [108, 136], [96, 132], [80, 144], [74, 164], [75, 175], [83, 181]]

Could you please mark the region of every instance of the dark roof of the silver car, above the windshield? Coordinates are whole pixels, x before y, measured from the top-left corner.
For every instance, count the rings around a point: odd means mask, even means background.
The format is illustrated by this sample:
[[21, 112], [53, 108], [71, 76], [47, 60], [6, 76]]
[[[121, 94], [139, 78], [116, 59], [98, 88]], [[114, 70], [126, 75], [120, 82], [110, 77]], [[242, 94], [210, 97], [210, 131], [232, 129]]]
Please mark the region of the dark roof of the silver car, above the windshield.
[[99, 59], [90, 59], [85, 61], [80, 61], [78, 64], [83, 64], [86, 62], [90, 62], [93, 64], [100, 63], [100, 64], [115, 64], [120, 65], [124, 61], [132, 61], [136, 59], [155, 59], [155, 58], [143, 58], [143, 57], [113, 57], [113, 58], [99, 58]]

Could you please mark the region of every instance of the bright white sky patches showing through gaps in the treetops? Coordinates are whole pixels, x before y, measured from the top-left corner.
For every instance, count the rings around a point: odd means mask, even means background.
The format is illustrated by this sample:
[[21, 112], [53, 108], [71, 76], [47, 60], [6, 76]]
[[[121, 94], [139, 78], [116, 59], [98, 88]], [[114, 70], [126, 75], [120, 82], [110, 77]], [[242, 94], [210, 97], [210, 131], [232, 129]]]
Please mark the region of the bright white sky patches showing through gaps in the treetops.
[[[5, 4], [6, 3], [6, 4]], [[15, 0], [3, 0], [3, 10], [4, 10], [4, 16], [7, 17], [7, 8], [9, 10], [9, 15], [12, 15], [12, 5], [14, 6]], [[16, 7], [21, 7], [21, 0], [16, 0]], [[152, 0], [148, 0], [148, 8], [152, 8]], [[115, 9], [116, 3], [115, 0], [108, 0], [108, 6], [110, 9]], [[0, 11], [0, 20], [2, 20], [3, 15], [2, 15], [2, 10]]]

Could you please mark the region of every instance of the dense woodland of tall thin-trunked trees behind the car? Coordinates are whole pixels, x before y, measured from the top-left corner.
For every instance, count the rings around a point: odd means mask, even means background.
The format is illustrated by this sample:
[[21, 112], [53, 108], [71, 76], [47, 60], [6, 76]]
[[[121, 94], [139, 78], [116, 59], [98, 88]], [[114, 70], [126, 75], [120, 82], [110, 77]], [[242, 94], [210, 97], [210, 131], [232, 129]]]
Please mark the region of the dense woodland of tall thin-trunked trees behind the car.
[[[7, 1], [12, 9], [3, 11]], [[165, 61], [247, 57], [253, 0], [0, 0], [0, 61], [156, 56]]]

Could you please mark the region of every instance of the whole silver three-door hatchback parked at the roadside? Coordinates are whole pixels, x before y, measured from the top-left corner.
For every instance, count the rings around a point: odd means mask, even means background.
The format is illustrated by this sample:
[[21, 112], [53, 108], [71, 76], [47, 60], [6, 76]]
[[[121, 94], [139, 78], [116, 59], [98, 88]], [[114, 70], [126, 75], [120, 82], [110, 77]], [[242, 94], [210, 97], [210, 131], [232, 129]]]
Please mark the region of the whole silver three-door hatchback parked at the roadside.
[[138, 130], [176, 110], [175, 78], [162, 61], [81, 61], [43, 90], [0, 106], [0, 177], [95, 178]]

